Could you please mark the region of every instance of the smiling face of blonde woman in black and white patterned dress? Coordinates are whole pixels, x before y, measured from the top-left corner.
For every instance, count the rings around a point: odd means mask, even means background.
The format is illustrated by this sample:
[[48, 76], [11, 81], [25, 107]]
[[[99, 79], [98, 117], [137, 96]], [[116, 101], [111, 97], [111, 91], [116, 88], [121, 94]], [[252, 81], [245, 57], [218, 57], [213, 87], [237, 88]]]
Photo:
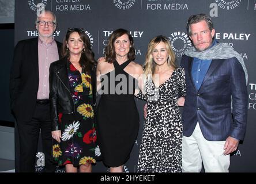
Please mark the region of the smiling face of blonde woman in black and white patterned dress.
[[165, 43], [163, 43], [163, 41], [160, 41], [160, 43], [157, 44], [156, 47], [152, 49], [152, 57], [158, 66], [168, 64], [167, 63], [168, 52], [167, 52], [166, 45]]

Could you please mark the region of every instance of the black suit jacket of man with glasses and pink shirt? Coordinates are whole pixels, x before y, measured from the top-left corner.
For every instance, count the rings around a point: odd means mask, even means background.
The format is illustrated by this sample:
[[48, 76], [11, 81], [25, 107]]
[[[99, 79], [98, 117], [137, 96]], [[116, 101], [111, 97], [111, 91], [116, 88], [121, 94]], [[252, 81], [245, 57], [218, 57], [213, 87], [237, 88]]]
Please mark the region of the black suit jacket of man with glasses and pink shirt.
[[[59, 57], [61, 43], [57, 42]], [[14, 48], [10, 72], [11, 108], [17, 120], [31, 121], [39, 86], [38, 37], [21, 40]]]

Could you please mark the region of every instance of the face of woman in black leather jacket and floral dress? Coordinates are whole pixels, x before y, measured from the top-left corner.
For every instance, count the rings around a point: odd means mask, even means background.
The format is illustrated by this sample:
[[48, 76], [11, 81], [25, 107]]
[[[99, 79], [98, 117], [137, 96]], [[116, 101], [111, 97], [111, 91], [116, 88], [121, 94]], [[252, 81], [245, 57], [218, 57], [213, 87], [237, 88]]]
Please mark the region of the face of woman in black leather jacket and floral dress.
[[84, 49], [84, 41], [82, 41], [78, 32], [71, 33], [66, 44], [67, 48], [69, 48], [70, 55], [81, 55]]

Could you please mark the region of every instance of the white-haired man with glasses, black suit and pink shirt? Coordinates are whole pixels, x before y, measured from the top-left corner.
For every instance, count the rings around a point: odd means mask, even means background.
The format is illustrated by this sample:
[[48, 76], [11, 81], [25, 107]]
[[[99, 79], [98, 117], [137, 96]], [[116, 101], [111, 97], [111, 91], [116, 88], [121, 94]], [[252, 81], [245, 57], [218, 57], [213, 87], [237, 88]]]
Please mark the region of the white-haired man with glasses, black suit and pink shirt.
[[39, 36], [18, 42], [10, 73], [11, 108], [20, 140], [19, 171], [35, 172], [37, 142], [41, 132], [44, 171], [54, 172], [48, 76], [50, 64], [59, 60], [61, 43], [52, 36], [57, 27], [54, 13], [43, 10], [37, 15], [35, 25]]

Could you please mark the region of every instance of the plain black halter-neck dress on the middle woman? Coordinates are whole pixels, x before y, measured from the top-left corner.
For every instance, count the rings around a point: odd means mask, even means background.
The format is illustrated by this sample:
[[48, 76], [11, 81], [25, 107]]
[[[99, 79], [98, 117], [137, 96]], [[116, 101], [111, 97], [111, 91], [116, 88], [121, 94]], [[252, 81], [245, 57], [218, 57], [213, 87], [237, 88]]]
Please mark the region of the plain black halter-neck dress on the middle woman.
[[126, 163], [138, 135], [140, 119], [134, 101], [138, 81], [123, 70], [129, 63], [115, 61], [115, 70], [101, 76], [96, 130], [103, 162], [110, 167]]

